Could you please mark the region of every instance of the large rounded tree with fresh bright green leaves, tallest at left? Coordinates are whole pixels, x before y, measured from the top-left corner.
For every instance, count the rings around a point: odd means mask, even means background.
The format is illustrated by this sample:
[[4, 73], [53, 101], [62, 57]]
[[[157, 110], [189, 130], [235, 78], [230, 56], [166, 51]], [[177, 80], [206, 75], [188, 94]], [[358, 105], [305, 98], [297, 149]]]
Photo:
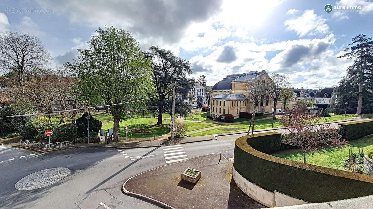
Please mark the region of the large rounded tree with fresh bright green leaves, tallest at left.
[[[151, 62], [132, 33], [113, 27], [96, 32], [87, 42], [88, 48], [78, 50], [78, 60], [66, 64], [79, 81], [83, 100], [112, 105], [144, 99], [154, 93]], [[144, 101], [110, 106], [114, 141], [118, 141], [120, 120], [131, 118], [132, 111], [144, 106]]]

